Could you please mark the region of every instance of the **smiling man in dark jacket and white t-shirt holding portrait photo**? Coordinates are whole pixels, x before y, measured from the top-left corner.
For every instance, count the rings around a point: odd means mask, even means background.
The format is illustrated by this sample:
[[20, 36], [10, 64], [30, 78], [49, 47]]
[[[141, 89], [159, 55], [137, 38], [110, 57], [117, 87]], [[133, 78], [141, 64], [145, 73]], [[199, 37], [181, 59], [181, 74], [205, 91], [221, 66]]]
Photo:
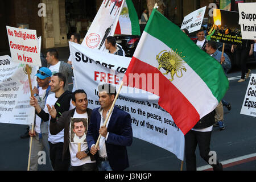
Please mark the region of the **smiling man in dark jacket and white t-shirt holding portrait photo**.
[[[81, 151], [79, 151], [78, 143], [71, 142], [71, 118], [85, 118], [88, 119], [88, 123], [90, 123], [90, 115], [92, 114], [92, 110], [87, 107], [88, 99], [84, 90], [76, 90], [72, 94], [72, 104], [76, 106], [76, 108], [64, 112], [63, 115], [57, 119], [55, 117], [55, 108], [48, 107], [49, 113], [52, 116], [49, 124], [50, 132], [51, 134], [55, 135], [64, 129], [63, 155], [70, 155], [71, 171], [95, 171], [97, 170], [96, 161], [94, 157], [90, 155], [88, 144], [86, 142], [81, 143]], [[82, 133], [81, 135], [78, 135], [82, 136]]]

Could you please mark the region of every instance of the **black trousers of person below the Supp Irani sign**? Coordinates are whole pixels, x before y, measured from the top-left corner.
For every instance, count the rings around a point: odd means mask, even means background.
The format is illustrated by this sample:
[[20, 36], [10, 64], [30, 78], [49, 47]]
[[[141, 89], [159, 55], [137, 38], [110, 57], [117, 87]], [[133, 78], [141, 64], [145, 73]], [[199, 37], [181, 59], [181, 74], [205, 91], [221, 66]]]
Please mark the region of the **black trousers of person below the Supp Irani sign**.
[[245, 79], [245, 73], [247, 73], [249, 70], [246, 67], [246, 61], [249, 57], [249, 48], [243, 48], [243, 49], [237, 49], [236, 50], [236, 61], [239, 63], [239, 66], [242, 71], [241, 79]]

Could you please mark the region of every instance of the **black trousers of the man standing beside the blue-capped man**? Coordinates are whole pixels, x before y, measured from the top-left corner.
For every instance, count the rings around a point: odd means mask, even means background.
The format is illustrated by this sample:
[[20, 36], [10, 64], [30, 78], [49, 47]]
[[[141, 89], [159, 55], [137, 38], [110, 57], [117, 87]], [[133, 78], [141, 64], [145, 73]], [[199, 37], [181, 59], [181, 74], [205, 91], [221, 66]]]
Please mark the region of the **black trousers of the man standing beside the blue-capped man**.
[[[68, 171], [70, 166], [70, 154], [66, 152], [64, 160], [62, 160], [63, 143], [52, 144], [49, 142], [49, 156], [52, 163], [52, 168], [55, 171]], [[68, 154], [67, 154], [68, 153]]]

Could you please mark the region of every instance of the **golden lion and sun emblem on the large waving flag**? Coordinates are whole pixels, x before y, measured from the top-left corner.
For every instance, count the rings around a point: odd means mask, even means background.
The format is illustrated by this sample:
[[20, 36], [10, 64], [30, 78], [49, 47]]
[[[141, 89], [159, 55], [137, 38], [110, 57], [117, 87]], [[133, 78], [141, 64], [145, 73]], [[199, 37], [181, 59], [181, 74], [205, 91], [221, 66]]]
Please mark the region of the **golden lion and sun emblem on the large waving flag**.
[[[163, 73], [163, 75], [167, 75], [168, 73], [171, 74], [170, 81], [174, 80], [174, 76], [176, 75], [178, 78], [181, 78], [183, 76], [183, 72], [187, 72], [187, 69], [184, 67], [185, 61], [183, 61], [183, 58], [185, 56], [181, 55], [182, 52], [174, 52], [172, 49], [171, 51], [161, 51], [158, 55], [156, 55], [156, 60], [158, 60], [158, 70], [160, 71], [160, 68], [163, 68], [166, 73]], [[178, 72], [179, 75], [178, 75]]]

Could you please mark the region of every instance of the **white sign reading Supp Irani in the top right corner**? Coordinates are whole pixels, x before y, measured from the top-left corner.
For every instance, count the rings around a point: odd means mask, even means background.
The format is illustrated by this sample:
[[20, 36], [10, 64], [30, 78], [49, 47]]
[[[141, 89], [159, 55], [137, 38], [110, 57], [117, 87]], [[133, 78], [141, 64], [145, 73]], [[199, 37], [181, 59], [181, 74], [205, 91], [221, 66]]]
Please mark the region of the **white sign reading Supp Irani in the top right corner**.
[[242, 39], [256, 40], [256, 3], [238, 3]]

